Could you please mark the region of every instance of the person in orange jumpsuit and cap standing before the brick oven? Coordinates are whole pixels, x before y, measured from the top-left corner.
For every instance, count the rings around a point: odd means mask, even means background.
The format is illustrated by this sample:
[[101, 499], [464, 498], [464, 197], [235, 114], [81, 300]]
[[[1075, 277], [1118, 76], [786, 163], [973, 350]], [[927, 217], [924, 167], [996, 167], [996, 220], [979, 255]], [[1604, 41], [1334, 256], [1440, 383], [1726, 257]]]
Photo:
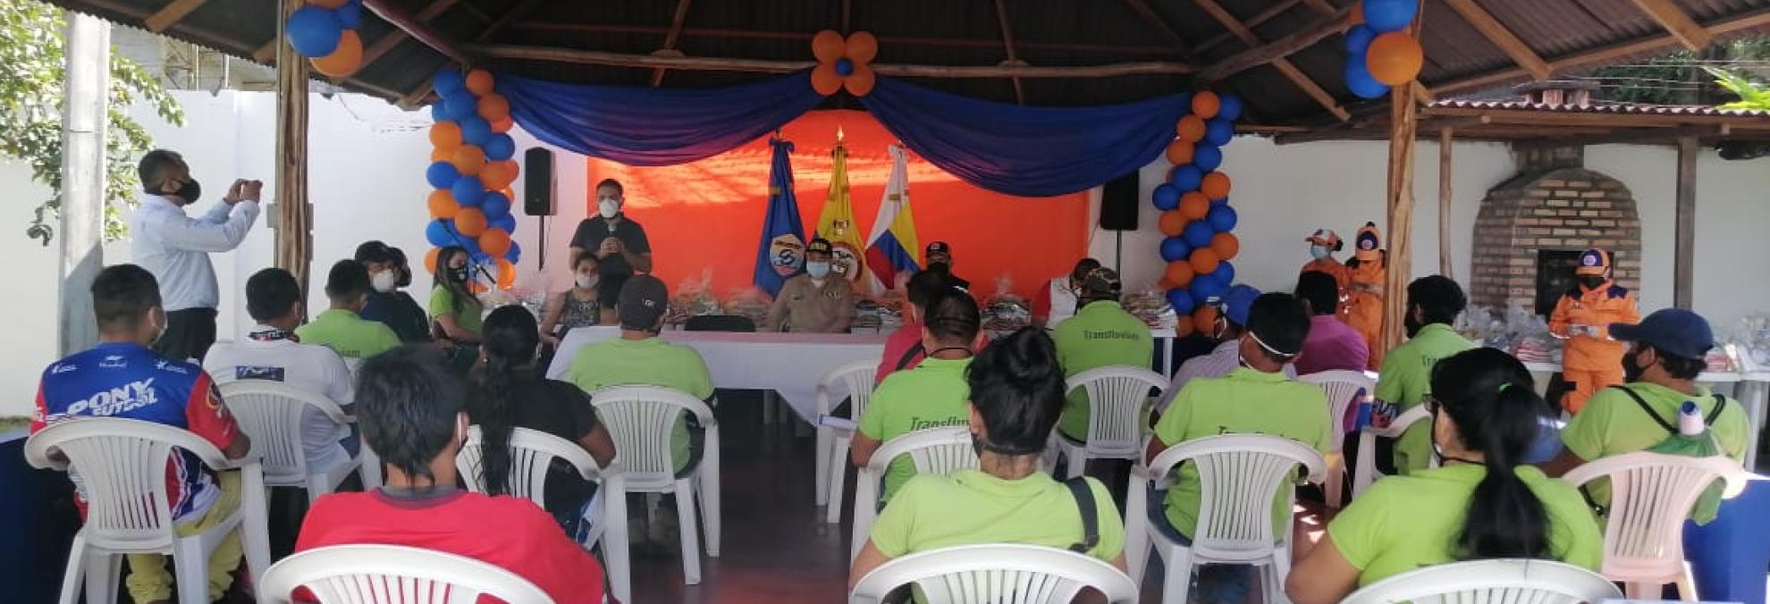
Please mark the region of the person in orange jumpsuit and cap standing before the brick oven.
[[1561, 377], [1572, 383], [1561, 409], [1579, 413], [1602, 388], [1623, 383], [1623, 342], [1611, 340], [1611, 324], [1641, 322], [1635, 292], [1612, 280], [1616, 267], [1609, 252], [1591, 248], [1579, 253], [1574, 276], [1579, 287], [1561, 294], [1549, 315], [1549, 333], [1566, 340], [1561, 352]]

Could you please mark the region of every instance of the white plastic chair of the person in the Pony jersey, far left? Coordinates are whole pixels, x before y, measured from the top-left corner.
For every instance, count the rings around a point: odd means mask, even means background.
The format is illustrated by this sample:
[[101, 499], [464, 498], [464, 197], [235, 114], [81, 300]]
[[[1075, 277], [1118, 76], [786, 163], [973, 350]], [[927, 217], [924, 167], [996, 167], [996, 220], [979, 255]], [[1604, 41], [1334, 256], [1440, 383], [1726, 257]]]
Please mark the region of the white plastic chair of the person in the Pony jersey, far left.
[[[196, 455], [209, 469], [241, 473], [239, 510], [191, 537], [179, 537], [166, 498], [166, 462], [177, 455], [175, 450]], [[113, 602], [120, 554], [170, 554], [173, 576], [182, 586], [179, 602], [207, 604], [209, 554], [234, 530], [241, 531], [253, 585], [271, 565], [264, 468], [257, 452], [230, 461], [184, 429], [122, 418], [74, 418], [25, 441], [25, 459], [34, 468], [73, 469], [87, 494], [87, 523], [74, 535], [62, 574], [62, 604], [80, 599], [81, 577], [87, 602]]]

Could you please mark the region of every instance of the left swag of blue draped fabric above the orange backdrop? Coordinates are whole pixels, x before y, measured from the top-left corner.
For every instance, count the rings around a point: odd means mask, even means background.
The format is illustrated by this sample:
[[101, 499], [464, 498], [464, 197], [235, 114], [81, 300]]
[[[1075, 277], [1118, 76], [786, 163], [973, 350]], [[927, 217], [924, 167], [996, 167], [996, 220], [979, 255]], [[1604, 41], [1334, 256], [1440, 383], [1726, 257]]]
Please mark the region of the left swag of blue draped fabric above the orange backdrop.
[[[717, 89], [604, 87], [497, 76], [529, 135], [591, 158], [666, 166], [761, 138], [823, 101], [811, 71]], [[1172, 124], [1172, 122], [1170, 122]]]

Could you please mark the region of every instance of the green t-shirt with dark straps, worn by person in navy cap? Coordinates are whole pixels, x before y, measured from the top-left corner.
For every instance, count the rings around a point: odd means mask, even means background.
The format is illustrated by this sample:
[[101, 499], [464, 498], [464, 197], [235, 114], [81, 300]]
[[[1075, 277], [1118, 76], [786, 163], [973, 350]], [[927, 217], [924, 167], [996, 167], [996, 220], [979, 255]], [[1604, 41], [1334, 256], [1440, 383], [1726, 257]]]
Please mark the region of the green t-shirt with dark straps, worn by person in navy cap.
[[[1650, 383], [1630, 383], [1621, 388], [1641, 395], [1641, 400], [1646, 400], [1653, 407], [1653, 413], [1658, 413], [1666, 423], [1674, 427], [1678, 425], [1678, 407], [1685, 400], [1696, 402], [1697, 409], [1703, 411], [1703, 418], [1708, 418], [1715, 411], [1715, 397], [1703, 386], [1696, 386], [1696, 395], [1685, 395]], [[1728, 409], [1722, 409], [1715, 416], [1715, 422], [1708, 427], [1708, 434], [1715, 436], [1715, 441], [1720, 443], [1720, 450], [1728, 457], [1745, 462], [1745, 446], [1751, 443], [1745, 407], [1738, 400], [1726, 400]], [[1666, 432], [1658, 422], [1653, 422], [1646, 411], [1641, 411], [1641, 406], [1627, 391], [1618, 388], [1604, 388], [1593, 393], [1586, 400], [1586, 407], [1579, 409], [1579, 414], [1568, 420], [1566, 429], [1561, 430], [1561, 443], [1566, 443], [1566, 450], [1584, 461], [1634, 453], [1658, 445], [1667, 438], [1671, 438], [1671, 432]], [[1611, 480], [1593, 480], [1586, 485], [1586, 492], [1591, 494], [1595, 503], [1609, 505]]]

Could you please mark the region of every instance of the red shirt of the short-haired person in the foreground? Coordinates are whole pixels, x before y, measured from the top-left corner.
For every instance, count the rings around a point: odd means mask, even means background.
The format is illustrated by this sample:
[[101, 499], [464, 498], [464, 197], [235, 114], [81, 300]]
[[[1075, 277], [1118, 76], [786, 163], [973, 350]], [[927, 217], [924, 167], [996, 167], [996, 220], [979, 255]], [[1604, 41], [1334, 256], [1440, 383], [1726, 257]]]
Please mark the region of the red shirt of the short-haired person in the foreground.
[[529, 579], [554, 602], [602, 604], [602, 567], [529, 499], [467, 491], [428, 499], [335, 492], [308, 510], [296, 551], [361, 544], [467, 556]]

